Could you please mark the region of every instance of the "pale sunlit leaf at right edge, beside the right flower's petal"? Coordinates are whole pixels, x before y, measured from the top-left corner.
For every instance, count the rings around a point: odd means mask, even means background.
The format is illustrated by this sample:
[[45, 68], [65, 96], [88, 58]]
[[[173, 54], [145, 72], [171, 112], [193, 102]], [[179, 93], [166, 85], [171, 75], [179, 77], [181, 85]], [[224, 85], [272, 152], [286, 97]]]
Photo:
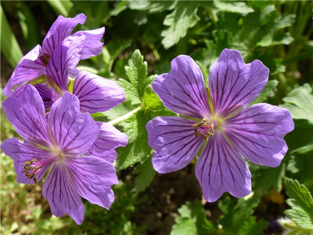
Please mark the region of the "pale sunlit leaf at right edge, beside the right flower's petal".
[[281, 107], [288, 109], [293, 119], [301, 119], [313, 125], [313, 93], [308, 83], [291, 90], [283, 101], [285, 104]]

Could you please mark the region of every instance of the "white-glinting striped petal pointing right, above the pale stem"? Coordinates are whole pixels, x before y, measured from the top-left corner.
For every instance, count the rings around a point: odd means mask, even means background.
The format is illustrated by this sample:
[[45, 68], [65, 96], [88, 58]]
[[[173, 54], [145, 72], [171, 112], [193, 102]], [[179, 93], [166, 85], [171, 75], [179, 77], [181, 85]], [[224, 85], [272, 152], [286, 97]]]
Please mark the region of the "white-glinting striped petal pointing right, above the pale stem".
[[90, 113], [107, 111], [125, 100], [125, 92], [117, 83], [87, 71], [77, 75], [73, 94], [81, 111]]

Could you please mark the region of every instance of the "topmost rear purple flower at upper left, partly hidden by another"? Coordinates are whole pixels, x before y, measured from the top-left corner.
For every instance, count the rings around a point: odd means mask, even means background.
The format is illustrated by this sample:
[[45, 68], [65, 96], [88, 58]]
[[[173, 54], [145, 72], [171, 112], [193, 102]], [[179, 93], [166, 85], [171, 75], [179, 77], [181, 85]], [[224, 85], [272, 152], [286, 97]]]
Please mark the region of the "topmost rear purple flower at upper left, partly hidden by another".
[[[86, 18], [84, 14], [79, 14], [72, 19], [59, 16], [45, 36], [43, 47], [37, 45], [22, 57], [4, 88], [3, 94], [12, 96], [12, 89], [15, 86], [26, 82], [37, 83], [37, 80], [40, 82], [45, 80], [46, 66], [54, 49], [70, 36], [77, 24], [84, 24]], [[103, 37], [104, 31], [105, 28], [102, 27], [94, 30], [78, 31], [73, 34], [73, 36], [84, 35], [86, 37], [84, 44], [81, 45], [82, 52], [79, 59], [87, 59], [101, 53], [103, 43], [100, 42], [100, 39]], [[35, 79], [36, 81], [34, 81]]]

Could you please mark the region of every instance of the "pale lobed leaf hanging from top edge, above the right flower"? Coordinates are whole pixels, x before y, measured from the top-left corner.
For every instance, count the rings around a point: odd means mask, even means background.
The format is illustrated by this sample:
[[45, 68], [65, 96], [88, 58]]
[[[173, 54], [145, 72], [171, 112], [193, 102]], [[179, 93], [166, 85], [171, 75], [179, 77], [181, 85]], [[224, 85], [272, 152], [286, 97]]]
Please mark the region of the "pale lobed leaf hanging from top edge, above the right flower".
[[164, 37], [162, 45], [168, 49], [179, 42], [187, 34], [188, 28], [193, 27], [200, 20], [197, 15], [198, 2], [178, 1], [175, 10], [166, 16], [163, 24], [169, 28], [161, 32]]

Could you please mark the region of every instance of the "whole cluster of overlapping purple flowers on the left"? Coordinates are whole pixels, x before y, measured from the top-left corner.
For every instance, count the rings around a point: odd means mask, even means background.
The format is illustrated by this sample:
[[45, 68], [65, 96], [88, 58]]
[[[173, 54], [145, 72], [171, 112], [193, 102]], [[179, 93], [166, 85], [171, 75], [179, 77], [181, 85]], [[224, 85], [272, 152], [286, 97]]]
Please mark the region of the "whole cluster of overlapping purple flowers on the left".
[[[1, 150], [14, 160], [17, 182], [38, 184], [55, 216], [84, 219], [81, 196], [109, 209], [117, 184], [114, 149], [128, 137], [112, 125], [94, 121], [89, 113], [104, 112], [125, 100], [115, 82], [78, 71], [80, 60], [101, 53], [104, 27], [78, 31], [86, 16], [60, 16], [43, 46], [36, 46], [19, 62], [3, 90], [10, 96], [3, 111], [24, 139], [7, 139]], [[15, 90], [12, 89], [15, 87]], [[47, 174], [47, 175], [46, 175]], [[46, 175], [46, 177], [45, 177]]]

